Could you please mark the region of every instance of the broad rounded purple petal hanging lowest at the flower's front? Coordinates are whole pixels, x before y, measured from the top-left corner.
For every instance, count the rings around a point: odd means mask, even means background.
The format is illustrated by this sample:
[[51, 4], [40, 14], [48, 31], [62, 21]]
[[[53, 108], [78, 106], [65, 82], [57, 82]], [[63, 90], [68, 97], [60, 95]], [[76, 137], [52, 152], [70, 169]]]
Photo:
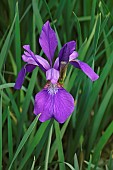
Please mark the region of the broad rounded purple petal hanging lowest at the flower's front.
[[74, 99], [63, 88], [57, 88], [54, 93], [52, 91], [48, 87], [35, 96], [34, 113], [41, 113], [41, 122], [55, 118], [59, 123], [64, 123], [74, 110]]

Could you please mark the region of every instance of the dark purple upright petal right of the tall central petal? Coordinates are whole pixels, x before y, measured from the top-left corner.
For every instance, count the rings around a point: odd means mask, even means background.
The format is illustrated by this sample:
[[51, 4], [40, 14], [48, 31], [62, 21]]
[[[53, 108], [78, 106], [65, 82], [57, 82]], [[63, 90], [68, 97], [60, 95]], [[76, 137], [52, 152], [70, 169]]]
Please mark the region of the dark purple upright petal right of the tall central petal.
[[69, 62], [69, 56], [74, 52], [75, 50], [75, 41], [70, 41], [68, 43], [66, 43], [60, 50], [59, 52], [59, 61], [65, 61], [65, 62]]

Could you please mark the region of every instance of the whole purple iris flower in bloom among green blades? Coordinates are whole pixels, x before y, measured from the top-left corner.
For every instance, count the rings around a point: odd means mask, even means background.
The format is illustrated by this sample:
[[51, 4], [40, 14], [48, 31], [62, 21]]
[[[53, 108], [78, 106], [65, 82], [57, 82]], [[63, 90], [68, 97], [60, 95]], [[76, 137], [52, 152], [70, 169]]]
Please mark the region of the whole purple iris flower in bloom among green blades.
[[58, 58], [53, 63], [54, 53], [58, 44], [56, 34], [47, 21], [42, 28], [39, 43], [49, 62], [30, 50], [30, 45], [24, 45], [23, 66], [18, 74], [14, 88], [20, 89], [27, 72], [32, 72], [35, 67], [40, 67], [46, 74], [47, 84], [36, 94], [34, 114], [40, 114], [39, 120], [44, 122], [54, 118], [59, 123], [64, 123], [74, 111], [74, 99], [70, 93], [63, 88], [67, 64], [81, 69], [92, 81], [98, 79], [98, 75], [92, 68], [76, 59], [78, 53], [75, 51], [75, 41], [67, 42], [60, 50]]

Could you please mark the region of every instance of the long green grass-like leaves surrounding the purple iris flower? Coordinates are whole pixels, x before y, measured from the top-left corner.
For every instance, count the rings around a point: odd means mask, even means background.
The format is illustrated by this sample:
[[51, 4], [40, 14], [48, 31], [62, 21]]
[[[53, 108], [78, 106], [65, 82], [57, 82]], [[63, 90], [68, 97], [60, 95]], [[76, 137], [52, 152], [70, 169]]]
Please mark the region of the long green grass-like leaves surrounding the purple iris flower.
[[[1, 0], [0, 170], [113, 170], [112, 6], [112, 0]], [[46, 83], [40, 69], [26, 76], [20, 91], [13, 89], [24, 65], [22, 46], [44, 56], [38, 39], [47, 20], [59, 38], [56, 57], [75, 40], [79, 59], [100, 76], [92, 83], [68, 67], [64, 87], [75, 110], [63, 125], [40, 123], [33, 114], [34, 96]]]

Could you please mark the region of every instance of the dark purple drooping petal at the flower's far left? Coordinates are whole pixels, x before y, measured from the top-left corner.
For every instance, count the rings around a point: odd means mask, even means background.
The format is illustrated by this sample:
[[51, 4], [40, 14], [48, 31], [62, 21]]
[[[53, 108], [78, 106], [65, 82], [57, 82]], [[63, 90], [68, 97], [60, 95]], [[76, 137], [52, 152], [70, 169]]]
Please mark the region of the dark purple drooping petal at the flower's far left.
[[18, 73], [18, 77], [16, 79], [16, 83], [14, 85], [15, 89], [21, 89], [22, 84], [24, 82], [25, 79], [25, 75], [27, 72], [32, 72], [35, 69], [36, 66], [32, 65], [32, 64], [27, 64], [24, 65], [22, 67], [22, 69], [20, 70], [20, 72]]

